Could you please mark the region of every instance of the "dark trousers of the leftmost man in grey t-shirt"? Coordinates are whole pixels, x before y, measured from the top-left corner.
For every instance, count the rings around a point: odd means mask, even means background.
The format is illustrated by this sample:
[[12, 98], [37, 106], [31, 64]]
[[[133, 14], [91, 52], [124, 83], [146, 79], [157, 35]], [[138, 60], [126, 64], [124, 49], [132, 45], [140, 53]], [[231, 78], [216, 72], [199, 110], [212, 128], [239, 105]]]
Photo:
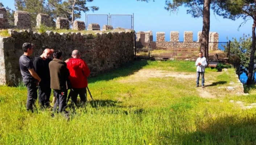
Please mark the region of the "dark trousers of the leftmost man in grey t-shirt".
[[37, 80], [33, 78], [23, 78], [22, 81], [28, 90], [26, 109], [27, 111], [31, 110], [33, 112], [33, 106], [37, 99]]

